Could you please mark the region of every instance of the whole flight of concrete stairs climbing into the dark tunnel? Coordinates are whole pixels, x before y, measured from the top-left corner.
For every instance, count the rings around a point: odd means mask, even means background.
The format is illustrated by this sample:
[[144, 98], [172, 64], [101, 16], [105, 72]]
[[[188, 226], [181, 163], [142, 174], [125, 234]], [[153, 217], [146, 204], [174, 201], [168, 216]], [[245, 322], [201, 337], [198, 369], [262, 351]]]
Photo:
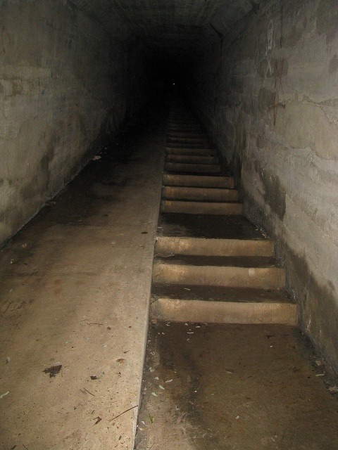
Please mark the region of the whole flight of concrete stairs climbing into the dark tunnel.
[[151, 319], [295, 325], [274, 245], [242, 216], [232, 176], [199, 123], [168, 122]]

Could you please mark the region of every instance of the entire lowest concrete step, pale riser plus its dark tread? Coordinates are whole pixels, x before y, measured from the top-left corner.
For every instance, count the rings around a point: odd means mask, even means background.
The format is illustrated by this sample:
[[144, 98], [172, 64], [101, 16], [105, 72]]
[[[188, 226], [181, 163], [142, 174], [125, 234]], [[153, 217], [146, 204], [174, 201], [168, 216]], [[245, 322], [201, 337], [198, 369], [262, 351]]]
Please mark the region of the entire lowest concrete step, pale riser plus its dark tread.
[[170, 322], [297, 323], [296, 304], [283, 290], [205, 285], [154, 283], [150, 315]]

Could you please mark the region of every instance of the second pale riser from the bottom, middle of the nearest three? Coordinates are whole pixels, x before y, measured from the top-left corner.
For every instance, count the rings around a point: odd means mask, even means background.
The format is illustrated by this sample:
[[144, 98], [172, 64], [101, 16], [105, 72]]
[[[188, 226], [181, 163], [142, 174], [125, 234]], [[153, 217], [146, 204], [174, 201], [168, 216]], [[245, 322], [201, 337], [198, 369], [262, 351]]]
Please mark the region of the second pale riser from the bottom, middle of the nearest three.
[[282, 268], [246, 268], [230, 266], [187, 266], [155, 262], [156, 283], [181, 285], [213, 285], [228, 288], [282, 289], [285, 272]]

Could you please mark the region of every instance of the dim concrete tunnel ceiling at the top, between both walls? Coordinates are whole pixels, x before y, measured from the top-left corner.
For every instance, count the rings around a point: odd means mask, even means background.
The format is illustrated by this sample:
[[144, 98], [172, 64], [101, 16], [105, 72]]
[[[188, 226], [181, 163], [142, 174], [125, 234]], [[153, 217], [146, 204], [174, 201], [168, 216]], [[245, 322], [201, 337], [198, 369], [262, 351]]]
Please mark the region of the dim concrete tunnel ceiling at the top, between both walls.
[[258, 0], [73, 0], [121, 39], [148, 39], [167, 49], [190, 46], [208, 26], [225, 34]]

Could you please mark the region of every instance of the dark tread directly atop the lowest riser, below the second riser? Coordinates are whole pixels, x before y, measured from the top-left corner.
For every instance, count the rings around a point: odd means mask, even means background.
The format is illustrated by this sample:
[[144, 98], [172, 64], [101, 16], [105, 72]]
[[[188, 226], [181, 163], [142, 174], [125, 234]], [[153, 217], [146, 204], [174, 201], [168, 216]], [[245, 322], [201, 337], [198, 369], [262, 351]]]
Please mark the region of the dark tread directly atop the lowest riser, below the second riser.
[[152, 300], [170, 298], [173, 300], [204, 300], [208, 302], [273, 302], [294, 304], [285, 290], [226, 288], [212, 285], [153, 283], [151, 297]]

